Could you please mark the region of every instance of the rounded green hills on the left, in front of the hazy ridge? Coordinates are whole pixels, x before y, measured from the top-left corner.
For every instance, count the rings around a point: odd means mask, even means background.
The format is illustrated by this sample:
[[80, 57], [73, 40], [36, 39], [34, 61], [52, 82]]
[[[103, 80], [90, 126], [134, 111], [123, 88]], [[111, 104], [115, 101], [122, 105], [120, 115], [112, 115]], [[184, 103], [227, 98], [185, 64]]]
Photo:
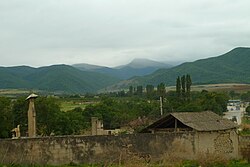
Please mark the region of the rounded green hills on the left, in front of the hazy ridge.
[[32, 68], [0, 67], [1, 89], [39, 89], [52, 92], [86, 93], [112, 85], [119, 80], [96, 72], [78, 70], [68, 65]]

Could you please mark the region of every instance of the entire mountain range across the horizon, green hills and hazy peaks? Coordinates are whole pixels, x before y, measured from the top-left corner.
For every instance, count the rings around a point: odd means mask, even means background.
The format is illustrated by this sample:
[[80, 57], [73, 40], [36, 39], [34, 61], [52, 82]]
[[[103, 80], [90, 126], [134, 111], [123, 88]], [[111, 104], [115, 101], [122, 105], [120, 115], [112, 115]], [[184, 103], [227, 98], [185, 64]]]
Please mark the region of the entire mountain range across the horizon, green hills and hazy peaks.
[[178, 76], [186, 74], [191, 75], [193, 84], [250, 83], [249, 62], [250, 48], [240, 47], [221, 56], [171, 68], [145, 59], [115, 68], [90, 64], [0, 67], [0, 89], [83, 94], [127, 89], [130, 85], [156, 86], [161, 82], [172, 86]]

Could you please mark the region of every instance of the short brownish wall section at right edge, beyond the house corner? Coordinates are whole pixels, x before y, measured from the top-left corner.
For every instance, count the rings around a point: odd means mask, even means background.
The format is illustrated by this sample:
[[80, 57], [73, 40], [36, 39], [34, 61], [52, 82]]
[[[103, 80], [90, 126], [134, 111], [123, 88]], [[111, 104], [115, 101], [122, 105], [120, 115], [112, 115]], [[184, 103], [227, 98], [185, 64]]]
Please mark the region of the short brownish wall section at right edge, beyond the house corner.
[[250, 135], [239, 136], [239, 151], [242, 158], [250, 162]]

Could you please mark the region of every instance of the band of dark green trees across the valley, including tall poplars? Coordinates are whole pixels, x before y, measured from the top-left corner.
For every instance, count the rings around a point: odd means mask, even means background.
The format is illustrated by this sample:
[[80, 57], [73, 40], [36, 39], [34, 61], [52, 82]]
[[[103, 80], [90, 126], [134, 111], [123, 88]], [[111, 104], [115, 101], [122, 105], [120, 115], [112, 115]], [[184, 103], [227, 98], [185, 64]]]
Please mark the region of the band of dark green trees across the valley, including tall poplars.
[[[166, 91], [164, 83], [156, 87], [147, 85], [144, 89], [142, 86], [130, 86], [128, 92], [99, 94], [100, 99], [97, 103], [67, 112], [61, 111], [60, 100], [39, 97], [35, 102], [37, 133], [41, 136], [83, 134], [90, 128], [93, 116], [103, 120], [105, 129], [126, 126], [138, 117], [156, 120], [161, 117], [160, 96], [163, 99], [164, 114], [211, 110], [222, 115], [232, 95], [242, 97], [246, 101], [250, 100], [250, 92], [236, 95], [235, 92], [191, 91], [191, 85], [191, 76], [185, 75], [176, 78], [176, 90]], [[25, 97], [14, 100], [0, 97], [0, 138], [11, 137], [11, 129], [17, 125], [21, 126], [22, 136], [26, 136], [27, 111], [28, 102]]]

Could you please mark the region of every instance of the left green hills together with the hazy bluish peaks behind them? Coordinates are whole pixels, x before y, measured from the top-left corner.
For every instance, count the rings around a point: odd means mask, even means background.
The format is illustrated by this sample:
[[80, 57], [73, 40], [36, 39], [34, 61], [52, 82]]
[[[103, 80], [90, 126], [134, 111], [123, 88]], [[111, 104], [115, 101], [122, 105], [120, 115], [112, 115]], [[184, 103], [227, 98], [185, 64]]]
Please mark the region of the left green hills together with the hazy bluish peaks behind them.
[[[146, 59], [108, 68], [90, 64], [0, 67], [0, 89], [44, 90], [57, 93], [92, 93], [134, 75], [145, 75], [167, 66]], [[120, 77], [121, 76], [121, 77]]]

